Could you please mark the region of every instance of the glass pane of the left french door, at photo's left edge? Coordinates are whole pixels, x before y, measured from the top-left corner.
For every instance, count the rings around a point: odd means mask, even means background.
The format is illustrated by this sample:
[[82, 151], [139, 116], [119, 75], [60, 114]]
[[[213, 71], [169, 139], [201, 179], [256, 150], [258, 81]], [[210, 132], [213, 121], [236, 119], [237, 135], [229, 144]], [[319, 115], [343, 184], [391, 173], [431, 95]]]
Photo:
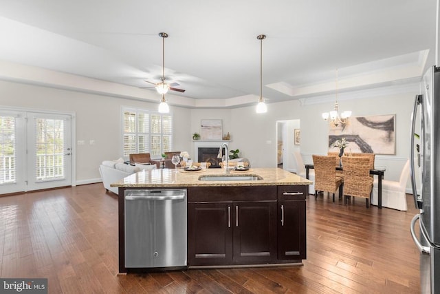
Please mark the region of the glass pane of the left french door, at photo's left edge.
[[16, 182], [15, 118], [0, 116], [0, 185]]

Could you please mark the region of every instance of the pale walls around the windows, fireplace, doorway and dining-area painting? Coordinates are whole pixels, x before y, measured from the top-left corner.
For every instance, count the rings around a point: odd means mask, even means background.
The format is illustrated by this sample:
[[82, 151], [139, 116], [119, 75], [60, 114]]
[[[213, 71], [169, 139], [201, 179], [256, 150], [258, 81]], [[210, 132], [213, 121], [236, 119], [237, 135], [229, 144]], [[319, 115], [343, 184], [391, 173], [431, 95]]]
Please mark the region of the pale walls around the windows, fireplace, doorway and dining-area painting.
[[[419, 85], [397, 85], [340, 94], [340, 109], [350, 109], [353, 116], [396, 114], [396, 154], [377, 156], [376, 164], [386, 167], [385, 178], [398, 180], [401, 167], [409, 156], [410, 113]], [[311, 102], [309, 102], [311, 101]], [[328, 125], [321, 118], [334, 106], [334, 96], [267, 105], [266, 114], [256, 114], [255, 105], [236, 109], [188, 109], [170, 107], [175, 115], [175, 151], [193, 156], [192, 133], [200, 132], [202, 118], [223, 120], [223, 134], [230, 132], [230, 149], [240, 149], [252, 167], [276, 167], [276, 121], [300, 120], [300, 150], [305, 162], [312, 154], [326, 154]], [[314, 104], [311, 104], [314, 103]], [[100, 96], [36, 85], [0, 81], [0, 105], [76, 113], [76, 140], [95, 140], [95, 145], [76, 146], [78, 184], [99, 180], [98, 165], [104, 159], [121, 156], [120, 109], [122, 106], [157, 109], [148, 103], [112, 96]]]

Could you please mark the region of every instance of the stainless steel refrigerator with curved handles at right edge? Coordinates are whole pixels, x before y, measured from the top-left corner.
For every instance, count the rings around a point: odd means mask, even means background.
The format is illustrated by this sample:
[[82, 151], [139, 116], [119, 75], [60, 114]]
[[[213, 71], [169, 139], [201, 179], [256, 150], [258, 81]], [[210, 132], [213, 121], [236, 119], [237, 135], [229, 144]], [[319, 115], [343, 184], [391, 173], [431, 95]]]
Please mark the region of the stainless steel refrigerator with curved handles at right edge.
[[[424, 74], [411, 119], [410, 174], [419, 213], [412, 218], [410, 231], [420, 251], [421, 293], [440, 293], [440, 67], [430, 67]], [[419, 171], [421, 187], [416, 184]]]

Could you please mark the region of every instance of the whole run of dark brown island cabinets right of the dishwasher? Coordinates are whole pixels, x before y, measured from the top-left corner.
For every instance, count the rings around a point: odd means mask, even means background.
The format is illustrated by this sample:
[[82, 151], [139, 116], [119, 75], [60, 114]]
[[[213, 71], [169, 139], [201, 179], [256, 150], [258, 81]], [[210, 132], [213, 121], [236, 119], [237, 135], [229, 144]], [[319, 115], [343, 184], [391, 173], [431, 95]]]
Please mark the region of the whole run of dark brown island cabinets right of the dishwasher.
[[307, 186], [188, 188], [188, 265], [300, 262]]

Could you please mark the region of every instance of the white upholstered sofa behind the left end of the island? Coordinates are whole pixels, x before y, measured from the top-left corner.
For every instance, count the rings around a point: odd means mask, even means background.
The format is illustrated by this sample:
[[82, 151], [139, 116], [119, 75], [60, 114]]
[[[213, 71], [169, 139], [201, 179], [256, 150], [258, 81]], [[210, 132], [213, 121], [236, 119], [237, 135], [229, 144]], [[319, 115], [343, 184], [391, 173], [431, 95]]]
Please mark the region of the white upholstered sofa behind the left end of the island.
[[112, 191], [118, 194], [117, 187], [110, 187], [113, 182], [135, 174], [138, 171], [151, 171], [156, 169], [156, 165], [142, 165], [135, 163], [134, 165], [129, 165], [122, 158], [118, 160], [104, 160], [99, 167], [99, 173], [102, 178], [102, 184], [107, 191]]

